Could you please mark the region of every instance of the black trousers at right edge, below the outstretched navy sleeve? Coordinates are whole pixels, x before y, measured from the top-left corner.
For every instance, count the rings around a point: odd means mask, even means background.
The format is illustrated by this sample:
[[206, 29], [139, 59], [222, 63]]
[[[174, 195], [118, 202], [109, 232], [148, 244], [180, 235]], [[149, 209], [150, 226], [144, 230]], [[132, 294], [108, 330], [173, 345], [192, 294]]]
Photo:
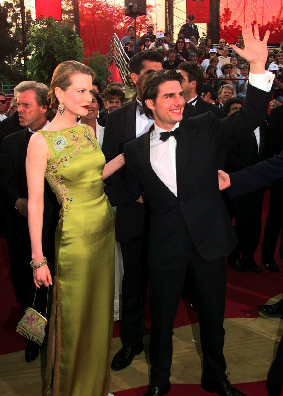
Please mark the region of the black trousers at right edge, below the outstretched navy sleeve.
[[262, 261], [274, 261], [274, 252], [283, 221], [283, 179], [273, 181], [270, 190], [270, 204], [262, 242]]

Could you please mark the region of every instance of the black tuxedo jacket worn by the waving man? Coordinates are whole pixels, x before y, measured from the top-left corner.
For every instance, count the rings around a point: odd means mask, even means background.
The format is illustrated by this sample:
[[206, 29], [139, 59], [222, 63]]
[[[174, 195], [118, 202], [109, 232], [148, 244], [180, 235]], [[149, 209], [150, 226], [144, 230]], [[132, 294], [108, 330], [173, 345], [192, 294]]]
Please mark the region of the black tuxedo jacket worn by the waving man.
[[105, 192], [112, 205], [131, 202], [145, 192], [151, 211], [150, 267], [180, 268], [185, 228], [206, 261], [222, 257], [236, 246], [236, 234], [218, 188], [219, 152], [263, 122], [269, 98], [270, 93], [249, 86], [245, 104], [237, 114], [219, 119], [208, 112], [180, 122], [177, 197], [151, 167], [150, 131], [125, 144], [127, 177], [122, 183], [106, 186]]

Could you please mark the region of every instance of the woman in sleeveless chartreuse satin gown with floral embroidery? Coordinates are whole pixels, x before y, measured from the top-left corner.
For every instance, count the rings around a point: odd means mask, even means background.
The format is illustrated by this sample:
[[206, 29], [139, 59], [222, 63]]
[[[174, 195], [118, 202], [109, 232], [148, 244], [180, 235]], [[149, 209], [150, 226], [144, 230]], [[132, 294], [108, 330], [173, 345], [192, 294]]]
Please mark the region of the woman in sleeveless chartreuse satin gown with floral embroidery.
[[[44, 395], [107, 396], [114, 301], [113, 211], [103, 179], [123, 164], [105, 166], [92, 128], [77, 125], [91, 102], [94, 74], [76, 61], [54, 71], [50, 107], [59, 110], [30, 139], [27, 152], [28, 224], [32, 262], [42, 262], [44, 177], [61, 205], [55, 234], [55, 282]], [[45, 110], [45, 109], [42, 109]], [[47, 265], [34, 268], [48, 286]], [[52, 388], [52, 390], [51, 390]]]

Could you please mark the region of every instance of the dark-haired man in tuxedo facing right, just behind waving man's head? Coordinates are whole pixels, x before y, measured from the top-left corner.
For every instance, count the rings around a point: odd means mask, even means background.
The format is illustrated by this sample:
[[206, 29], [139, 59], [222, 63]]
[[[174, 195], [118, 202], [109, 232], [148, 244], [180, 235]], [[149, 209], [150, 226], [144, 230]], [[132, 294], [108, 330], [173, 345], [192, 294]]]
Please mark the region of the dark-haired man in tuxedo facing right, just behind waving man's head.
[[[178, 66], [177, 71], [181, 73], [184, 78], [182, 88], [184, 90], [185, 102], [194, 106], [197, 114], [212, 111], [218, 118], [226, 117], [223, 110], [201, 98], [204, 78], [203, 72], [197, 65], [194, 63], [183, 62]], [[183, 117], [186, 118], [188, 116], [189, 115], [187, 114], [187, 109], [185, 107]]]

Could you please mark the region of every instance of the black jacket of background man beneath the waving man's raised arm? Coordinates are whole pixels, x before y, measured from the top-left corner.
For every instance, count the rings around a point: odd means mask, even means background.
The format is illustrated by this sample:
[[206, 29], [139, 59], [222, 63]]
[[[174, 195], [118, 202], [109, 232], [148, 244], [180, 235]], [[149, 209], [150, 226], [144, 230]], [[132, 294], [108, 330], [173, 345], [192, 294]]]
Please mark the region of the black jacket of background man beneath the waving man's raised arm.
[[237, 145], [227, 148], [226, 152], [226, 172], [236, 172], [247, 166], [253, 166], [260, 161], [272, 156], [270, 151], [269, 131], [266, 122], [260, 126], [260, 145], [256, 142], [255, 133], [251, 133], [246, 139]]

